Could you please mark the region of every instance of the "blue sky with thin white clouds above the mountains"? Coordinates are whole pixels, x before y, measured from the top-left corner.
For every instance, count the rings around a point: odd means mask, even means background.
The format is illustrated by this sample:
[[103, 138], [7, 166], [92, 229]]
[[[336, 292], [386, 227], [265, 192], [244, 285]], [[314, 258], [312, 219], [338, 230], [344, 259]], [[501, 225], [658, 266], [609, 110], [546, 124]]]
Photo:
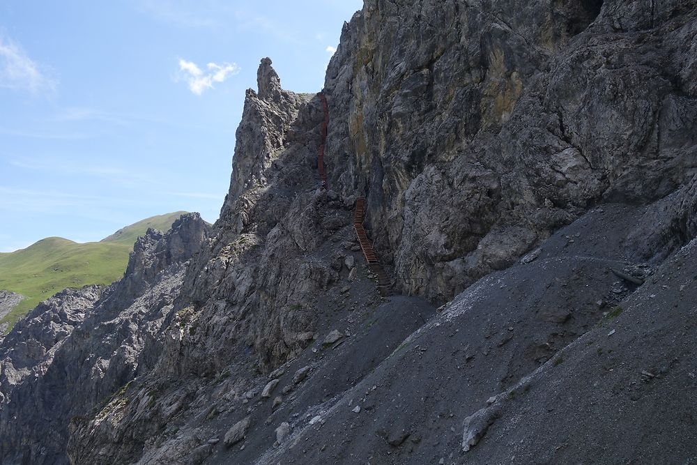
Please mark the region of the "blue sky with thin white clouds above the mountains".
[[0, 252], [217, 220], [245, 89], [269, 56], [320, 91], [360, 0], [0, 2]]

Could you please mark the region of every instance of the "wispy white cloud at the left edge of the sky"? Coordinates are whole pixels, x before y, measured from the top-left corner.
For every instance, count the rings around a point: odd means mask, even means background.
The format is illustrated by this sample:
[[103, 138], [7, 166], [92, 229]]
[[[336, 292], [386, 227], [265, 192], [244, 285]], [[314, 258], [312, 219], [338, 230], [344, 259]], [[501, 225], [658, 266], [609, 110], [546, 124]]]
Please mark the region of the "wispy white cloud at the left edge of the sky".
[[0, 87], [37, 94], [54, 91], [56, 82], [39, 70], [22, 47], [0, 37]]

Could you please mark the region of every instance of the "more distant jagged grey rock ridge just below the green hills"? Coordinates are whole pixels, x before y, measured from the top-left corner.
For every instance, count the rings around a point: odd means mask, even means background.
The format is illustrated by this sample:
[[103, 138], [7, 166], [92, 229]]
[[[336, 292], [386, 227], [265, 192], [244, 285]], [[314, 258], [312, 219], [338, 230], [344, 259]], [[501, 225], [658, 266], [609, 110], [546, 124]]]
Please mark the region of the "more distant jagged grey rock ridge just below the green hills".
[[118, 411], [128, 383], [155, 365], [182, 260], [198, 252], [206, 224], [189, 214], [173, 228], [139, 238], [123, 280], [56, 294], [0, 344], [0, 462], [67, 463], [69, 429], [93, 409]]

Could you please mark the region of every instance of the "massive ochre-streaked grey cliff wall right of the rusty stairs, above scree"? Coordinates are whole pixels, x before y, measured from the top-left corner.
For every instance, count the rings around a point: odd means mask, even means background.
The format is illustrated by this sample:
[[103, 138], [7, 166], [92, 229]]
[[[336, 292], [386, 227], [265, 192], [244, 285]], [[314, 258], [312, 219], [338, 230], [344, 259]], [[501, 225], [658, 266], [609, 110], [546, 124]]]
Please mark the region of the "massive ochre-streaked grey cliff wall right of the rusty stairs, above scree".
[[694, 174], [694, 12], [636, 5], [365, 3], [328, 70], [330, 152], [402, 289], [447, 300], [589, 204]]

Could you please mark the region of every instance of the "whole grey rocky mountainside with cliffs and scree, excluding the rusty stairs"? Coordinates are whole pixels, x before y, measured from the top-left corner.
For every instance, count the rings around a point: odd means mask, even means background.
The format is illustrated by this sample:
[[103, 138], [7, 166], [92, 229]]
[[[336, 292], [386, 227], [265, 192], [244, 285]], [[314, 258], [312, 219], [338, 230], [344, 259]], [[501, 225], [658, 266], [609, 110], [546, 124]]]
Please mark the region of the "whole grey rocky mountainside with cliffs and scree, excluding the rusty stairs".
[[696, 459], [696, 37], [689, 0], [366, 0], [325, 141], [263, 59], [213, 228], [0, 344], [3, 463]]

